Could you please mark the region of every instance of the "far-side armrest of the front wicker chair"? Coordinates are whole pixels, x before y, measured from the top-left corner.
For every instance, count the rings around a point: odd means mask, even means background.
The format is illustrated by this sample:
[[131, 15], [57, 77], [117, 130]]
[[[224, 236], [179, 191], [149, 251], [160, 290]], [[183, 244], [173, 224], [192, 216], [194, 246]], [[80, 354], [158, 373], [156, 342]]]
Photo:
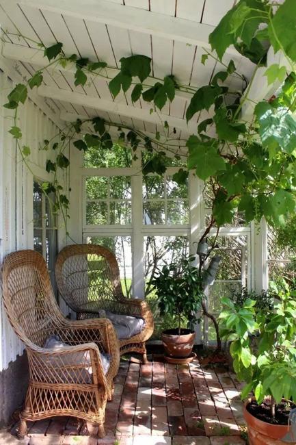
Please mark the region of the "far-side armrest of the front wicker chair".
[[120, 346], [116, 330], [107, 318], [88, 318], [85, 320], [62, 320], [59, 336], [65, 342], [94, 342], [100, 349], [111, 355], [110, 370], [116, 375], [120, 363]]

